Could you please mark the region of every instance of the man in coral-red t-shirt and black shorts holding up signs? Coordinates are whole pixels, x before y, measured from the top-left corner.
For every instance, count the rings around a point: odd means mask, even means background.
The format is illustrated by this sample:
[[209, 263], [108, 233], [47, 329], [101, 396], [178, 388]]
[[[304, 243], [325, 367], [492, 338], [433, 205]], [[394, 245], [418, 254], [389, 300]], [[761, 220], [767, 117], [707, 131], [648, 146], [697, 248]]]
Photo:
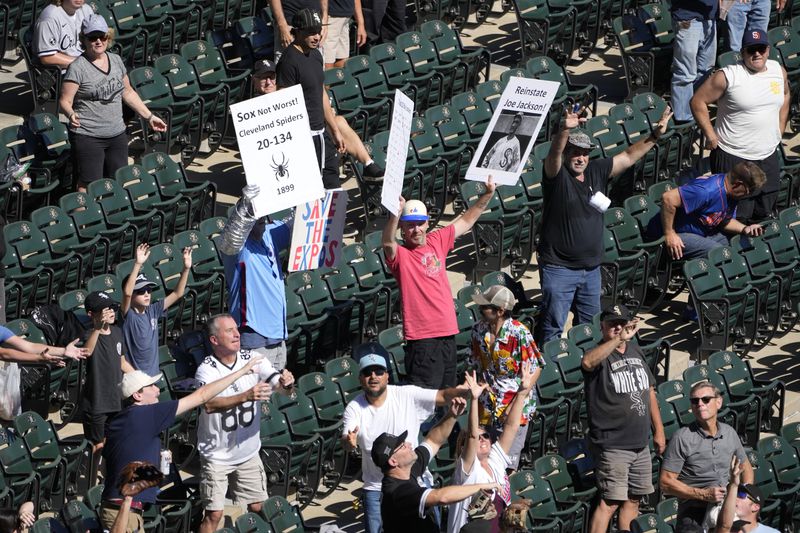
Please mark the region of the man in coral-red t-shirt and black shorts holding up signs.
[[[400, 285], [405, 366], [412, 385], [443, 389], [456, 384], [458, 325], [445, 260], [455, 240], [472, 229], [494, 190], [489, 176], [486, 192], [469, 209], [451, 225], [430, 234], [425, 204], [419, 200], [406, 202], [401, 196], [399, 221], [390, 215], [383, 228], [383, 252]], [[397, 244], [398, 222], [403, 246]]]

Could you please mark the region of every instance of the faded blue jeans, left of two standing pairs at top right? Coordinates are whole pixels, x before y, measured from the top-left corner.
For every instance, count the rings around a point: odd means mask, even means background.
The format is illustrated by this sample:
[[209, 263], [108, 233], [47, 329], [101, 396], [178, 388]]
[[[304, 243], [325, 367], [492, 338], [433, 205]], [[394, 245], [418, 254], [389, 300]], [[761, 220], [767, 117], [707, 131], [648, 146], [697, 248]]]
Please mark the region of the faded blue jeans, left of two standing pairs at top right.
[[692, 120], [689, 102], [717, 59], [717, 26], [713, 20], [673, 19], [672, 27], [672, 109], [675, 120]]

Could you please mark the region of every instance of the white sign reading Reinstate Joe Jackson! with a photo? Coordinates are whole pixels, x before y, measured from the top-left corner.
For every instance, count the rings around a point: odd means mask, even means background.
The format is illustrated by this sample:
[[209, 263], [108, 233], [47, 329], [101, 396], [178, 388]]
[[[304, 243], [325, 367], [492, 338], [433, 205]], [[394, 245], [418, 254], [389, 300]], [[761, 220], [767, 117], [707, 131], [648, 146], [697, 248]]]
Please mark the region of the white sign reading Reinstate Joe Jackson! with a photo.
[[558, 92], [555, 81], [513, 77], [469, 164], [466, 178], [498, 185], [517, 183]]

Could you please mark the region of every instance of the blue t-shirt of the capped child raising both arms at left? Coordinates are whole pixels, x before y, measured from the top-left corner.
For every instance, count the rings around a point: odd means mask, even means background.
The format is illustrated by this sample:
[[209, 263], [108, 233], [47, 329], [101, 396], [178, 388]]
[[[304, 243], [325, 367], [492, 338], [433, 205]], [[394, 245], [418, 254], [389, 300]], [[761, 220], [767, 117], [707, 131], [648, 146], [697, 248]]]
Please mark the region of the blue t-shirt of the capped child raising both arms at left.
[[122, 324], [128, 347], [125, 359], [148, 376], [158, 374], [158, 322], [165, 314], [164, 300], [159, 300], [148, 305], [144, 313], [137, 313], [131, 307]]

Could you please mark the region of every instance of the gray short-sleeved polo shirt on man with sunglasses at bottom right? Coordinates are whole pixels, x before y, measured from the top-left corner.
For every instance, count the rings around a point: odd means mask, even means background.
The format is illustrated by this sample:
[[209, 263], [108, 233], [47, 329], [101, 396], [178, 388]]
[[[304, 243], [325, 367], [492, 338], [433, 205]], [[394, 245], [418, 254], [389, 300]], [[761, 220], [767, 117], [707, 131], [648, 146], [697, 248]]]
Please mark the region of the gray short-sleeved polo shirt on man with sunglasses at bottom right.
[[690, 487], [725, 487], [734, 453], [747, 459], [739, 435], [732, 427], [717, 422], [713, 437], [693, 422], [679, 429], [670, 439], [661, 468], [678, 473], [678, 481]]

